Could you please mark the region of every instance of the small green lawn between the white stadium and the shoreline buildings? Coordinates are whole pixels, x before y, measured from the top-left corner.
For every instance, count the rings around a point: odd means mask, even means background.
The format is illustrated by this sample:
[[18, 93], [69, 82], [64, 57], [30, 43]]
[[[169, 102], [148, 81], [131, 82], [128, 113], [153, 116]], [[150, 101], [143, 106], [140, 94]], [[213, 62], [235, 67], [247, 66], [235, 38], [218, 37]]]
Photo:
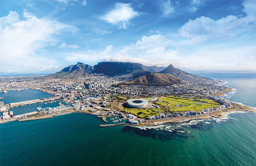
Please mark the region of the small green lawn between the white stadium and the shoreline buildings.
[[123, 111], [137, 115], [140, 118], [147, 118], [148, 116], [156, 116], [164, 112], [160, 109], [133, 109], [133, 108], [124, 108]]

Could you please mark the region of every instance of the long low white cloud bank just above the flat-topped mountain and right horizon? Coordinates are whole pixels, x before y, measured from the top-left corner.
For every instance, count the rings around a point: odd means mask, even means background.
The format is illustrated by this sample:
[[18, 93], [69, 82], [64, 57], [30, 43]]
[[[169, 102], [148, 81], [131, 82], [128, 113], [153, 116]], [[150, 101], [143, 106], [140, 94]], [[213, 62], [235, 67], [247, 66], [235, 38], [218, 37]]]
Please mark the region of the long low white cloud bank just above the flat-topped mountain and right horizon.
[[[202, 40], [202, 39], [199, 39]], [[196, 42], [197, 43], [197, 42]], [[185, 48], [182, 48], [182, 45]], [[194, 70], [256, 70], [255, 46], [223, 46], [221, 44], [188, 49], [188, 43], [175, 43], [162, 35], [142, 37], [134, 44], [115, 50], [112, 45], [104, 51], [66, 53], [65, 60], [76, 63], [99, 61], [138, 62], [144, 65], [167, 66]], [[248, 56], [244, 56], [244, 53]], [[207, 55], [207, 58], [206, 58]], [[247, 58], [248, 57], [248, 58]]]

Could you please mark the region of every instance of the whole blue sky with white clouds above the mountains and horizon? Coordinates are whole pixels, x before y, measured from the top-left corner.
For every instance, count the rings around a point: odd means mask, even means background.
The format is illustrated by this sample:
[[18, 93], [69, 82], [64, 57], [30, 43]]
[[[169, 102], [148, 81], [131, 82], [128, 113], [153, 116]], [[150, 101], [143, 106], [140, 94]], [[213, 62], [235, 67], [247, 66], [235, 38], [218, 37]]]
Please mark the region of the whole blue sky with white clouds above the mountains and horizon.
[[0, 0], [0, 74], [100, 61], [256, 71], [256, 1]]

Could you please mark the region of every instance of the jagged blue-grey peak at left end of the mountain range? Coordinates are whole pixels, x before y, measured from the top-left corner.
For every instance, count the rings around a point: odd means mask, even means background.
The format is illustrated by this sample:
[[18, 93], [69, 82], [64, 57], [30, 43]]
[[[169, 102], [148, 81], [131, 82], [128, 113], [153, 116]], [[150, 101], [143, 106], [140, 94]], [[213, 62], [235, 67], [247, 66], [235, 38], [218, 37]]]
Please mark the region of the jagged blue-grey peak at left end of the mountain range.
[[76, 65], [70, 65], [61, 71], [49, 74], [44, 78], [66, 78], [66, 79], [77, 79], [82, 76], [87, 76], [94, 70], [94, 67], [85, 65], [84, 63], [77, 62]]

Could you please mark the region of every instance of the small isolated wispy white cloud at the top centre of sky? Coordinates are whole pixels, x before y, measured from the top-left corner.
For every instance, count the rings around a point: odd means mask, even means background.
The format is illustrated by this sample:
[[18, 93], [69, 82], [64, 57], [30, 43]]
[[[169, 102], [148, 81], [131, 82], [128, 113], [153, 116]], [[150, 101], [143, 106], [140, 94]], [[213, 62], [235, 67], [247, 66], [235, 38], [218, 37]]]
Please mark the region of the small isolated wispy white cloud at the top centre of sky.
[[137, 15], [138, 13], [133, 10], [131, 4], [116, 3], [114, 9], [101, 18], [107, 23], [112, 23], [118, 25], [119, 28], [126, 29], [130, 24], [130, 20]]

